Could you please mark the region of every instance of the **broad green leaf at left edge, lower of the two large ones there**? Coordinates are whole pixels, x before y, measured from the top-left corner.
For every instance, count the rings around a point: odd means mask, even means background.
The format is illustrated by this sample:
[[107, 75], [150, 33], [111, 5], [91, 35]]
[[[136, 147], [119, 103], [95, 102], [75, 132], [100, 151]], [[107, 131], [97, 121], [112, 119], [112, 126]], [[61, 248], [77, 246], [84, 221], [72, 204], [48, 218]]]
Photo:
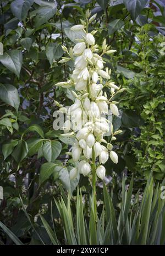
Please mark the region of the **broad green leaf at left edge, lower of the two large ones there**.
[[3, 102], [14, 107], [17, 111], [19, 108], [20, 98], [17, 88], [13, 85], [0, 85], [0, 98]]

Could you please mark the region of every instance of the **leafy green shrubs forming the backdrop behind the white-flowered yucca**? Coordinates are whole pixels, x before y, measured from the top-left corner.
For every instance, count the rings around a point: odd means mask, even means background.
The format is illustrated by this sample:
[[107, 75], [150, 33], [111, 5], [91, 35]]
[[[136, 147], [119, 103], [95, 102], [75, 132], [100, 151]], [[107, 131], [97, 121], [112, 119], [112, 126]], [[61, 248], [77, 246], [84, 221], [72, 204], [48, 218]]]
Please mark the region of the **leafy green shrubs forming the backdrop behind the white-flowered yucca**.
[[[50, 214], [58, 218], [53, 196], [57, 199], [70, 189], [76, 195], [78, 182], [84, 197], [91, 191], [87, 177], [69, 180], [73, 163], [65, 152], [70, 142], [52, 126], [54, 100], [65, 106], [72, 100], [69, 91], [54, 86], [73, 69], [72, 61], [58, 64], [64, 54], [61, 45], [74, 45], [70, 27], [79, 24], [87, 9], [97, 13], [90, 28], [98, 30], [96, 43], [102, 45], [106, 38], [117, 50], [112, 57], [103, 56], [112, 80], [127, 88], [115, 98], [120, 115], [113, 126], [123, 130], [114, 146], [119, 163], [109, 159], [105, 164], [114, 205], [120, 200], [123, 173], [128, 182], [134, 174], [135, 192], [143, 191], [151, 171], [155, 183], [165, 176], [165, 1], [1, 0], [0, 221], [25, 243], [41, 242], [19, 196], [37, 232], [50, 243], [39, 213], [47, 220]], [[102, 184], [97, 199], [103, 200]], [[56, 225], [61, 236], [61, 222]], [[1, 231], [0, 242], [12, 243]]]

